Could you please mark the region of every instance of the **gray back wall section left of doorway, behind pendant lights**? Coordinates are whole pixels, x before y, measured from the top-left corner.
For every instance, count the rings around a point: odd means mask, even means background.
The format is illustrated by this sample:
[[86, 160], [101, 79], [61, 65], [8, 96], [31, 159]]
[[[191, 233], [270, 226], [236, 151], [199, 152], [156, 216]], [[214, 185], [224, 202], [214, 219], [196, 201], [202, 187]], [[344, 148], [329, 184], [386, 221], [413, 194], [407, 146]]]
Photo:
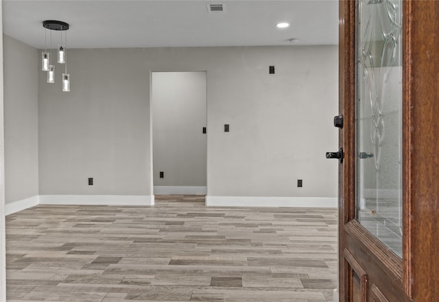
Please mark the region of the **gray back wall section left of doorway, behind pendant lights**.
[[[39, 73], [40, 194], [150, 195], [142, 50], [68, 50], [71, 92]], [[88, 177], [94, 185], [88, 186]]]

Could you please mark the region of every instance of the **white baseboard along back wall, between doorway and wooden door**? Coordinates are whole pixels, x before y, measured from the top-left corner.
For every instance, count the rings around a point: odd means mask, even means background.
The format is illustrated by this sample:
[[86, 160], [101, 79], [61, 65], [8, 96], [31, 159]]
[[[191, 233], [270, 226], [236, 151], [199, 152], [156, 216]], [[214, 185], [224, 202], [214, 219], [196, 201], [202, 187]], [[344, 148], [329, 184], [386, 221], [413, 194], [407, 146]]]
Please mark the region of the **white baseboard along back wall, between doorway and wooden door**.
[[208, 207], [338, 207], [337, 197], [206, 196]]

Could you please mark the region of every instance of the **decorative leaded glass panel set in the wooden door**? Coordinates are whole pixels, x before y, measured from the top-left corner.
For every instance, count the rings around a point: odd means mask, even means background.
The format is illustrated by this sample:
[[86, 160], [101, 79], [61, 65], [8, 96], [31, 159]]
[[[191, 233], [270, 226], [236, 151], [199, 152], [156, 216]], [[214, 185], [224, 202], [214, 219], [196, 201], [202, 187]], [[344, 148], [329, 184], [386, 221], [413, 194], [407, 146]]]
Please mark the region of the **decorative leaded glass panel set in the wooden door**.
[[401, 1], [357, 5], [357, 220], [401, 257]]

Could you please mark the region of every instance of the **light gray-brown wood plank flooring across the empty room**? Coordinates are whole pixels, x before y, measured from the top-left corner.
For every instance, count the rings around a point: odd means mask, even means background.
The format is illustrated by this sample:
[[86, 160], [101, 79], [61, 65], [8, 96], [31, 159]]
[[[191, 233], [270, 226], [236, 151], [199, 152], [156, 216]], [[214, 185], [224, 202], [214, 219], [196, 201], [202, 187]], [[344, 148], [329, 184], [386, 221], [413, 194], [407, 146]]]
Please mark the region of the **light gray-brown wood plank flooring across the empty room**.
[[38, 205], [6, 240], [9, 302], [326, 302], [337, 285], [335, 209]]

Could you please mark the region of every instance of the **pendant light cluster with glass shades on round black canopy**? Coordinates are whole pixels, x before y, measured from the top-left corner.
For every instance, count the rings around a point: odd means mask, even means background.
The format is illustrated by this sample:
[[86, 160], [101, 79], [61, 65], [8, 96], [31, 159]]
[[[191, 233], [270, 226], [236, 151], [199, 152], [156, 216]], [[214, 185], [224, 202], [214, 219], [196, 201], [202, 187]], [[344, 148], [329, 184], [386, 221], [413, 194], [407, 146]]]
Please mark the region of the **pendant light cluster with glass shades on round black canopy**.
[[[55, 82], [55, 66], [51, 64], [51, 51], [47, 51], [47, 29], [61, 32], [61, 41], [58, 44], [58, 63], [65, 64], [65, 73], [62, 74], [62, 91], [70, 91], [70, 75], [67, 73], [67, 29], [69, 24], [62, 21], [47, 20], [43, 21], [43, 27], [46, 29], [45, 34], [45, 51], [42, 53], [42, 69], [47, 71], [47, 83]], [[62, 32], [65, 33], [64, 44], [62, 43]], [[50, 49], [51, 49], [51, 32], [50, 32]]]

